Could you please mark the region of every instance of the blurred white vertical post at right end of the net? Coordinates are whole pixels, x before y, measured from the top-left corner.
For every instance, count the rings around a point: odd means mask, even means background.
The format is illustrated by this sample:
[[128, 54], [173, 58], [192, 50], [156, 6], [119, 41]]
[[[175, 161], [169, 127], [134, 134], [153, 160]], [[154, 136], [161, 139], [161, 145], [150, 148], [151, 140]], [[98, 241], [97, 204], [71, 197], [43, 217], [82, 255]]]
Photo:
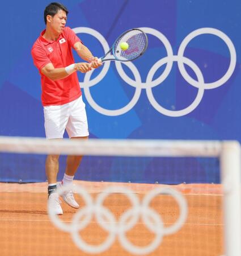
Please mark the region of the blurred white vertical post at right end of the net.
[[239, 142], [223, 142], [221, 151], [221, 182], [225, 255], [241, 255], [241, 149]]

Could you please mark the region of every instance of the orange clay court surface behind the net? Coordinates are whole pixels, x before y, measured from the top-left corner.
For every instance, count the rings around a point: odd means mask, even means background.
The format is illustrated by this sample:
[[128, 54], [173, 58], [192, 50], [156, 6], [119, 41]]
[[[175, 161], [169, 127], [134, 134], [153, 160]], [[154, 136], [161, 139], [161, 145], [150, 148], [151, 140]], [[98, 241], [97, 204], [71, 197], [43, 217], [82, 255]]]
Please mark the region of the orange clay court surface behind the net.
[[[82, 185], [94, 199], [104, 188], [111, 185], [125, 185], [142, 200], [158, 184], [122, 184], [93, 183], [75, 181]], [[151, 256], [218, 256], [223, 252], [222, 190], [220, 185], [181, 184], [172, 185], [188, 203], [188, 218], [183, 227], [175, 234], [164, 236]], [[75, 199], [84, 207], [84, 200], [75, 193]], [[9, 184], [0, 183], [0, 255], [1, 256], [71, 256], [93, 255], [80, 250], [70, 233], [59, 230], [52, 224], [46, 209], [46, 183]], [[70, 224], [75, 212], [62, 200], [64, 215], [60, 217]], [[117, 221], [125, 210], [131, 207], [128, 198], [121, 193], [113, 193], [104, 201], [115, 215]], [[176, 201], [169, 195], [159, 195], [151, 201], [153, 208], [162, 218], [164, 226], [172, 225], [179, 216]], [[108, 224], [106, 224], [108, 225]], [[97, 246], [109, 233], [99, 226], [93, 217], [90, 224], [81, 232], [86, 243]], [[153, 242], [155, 234], [151, 232], [141, 218], [126, 237], [133, 245], [147, 246]], [[133, 255], [120, 244], [118, 237], [102, 256]]]

